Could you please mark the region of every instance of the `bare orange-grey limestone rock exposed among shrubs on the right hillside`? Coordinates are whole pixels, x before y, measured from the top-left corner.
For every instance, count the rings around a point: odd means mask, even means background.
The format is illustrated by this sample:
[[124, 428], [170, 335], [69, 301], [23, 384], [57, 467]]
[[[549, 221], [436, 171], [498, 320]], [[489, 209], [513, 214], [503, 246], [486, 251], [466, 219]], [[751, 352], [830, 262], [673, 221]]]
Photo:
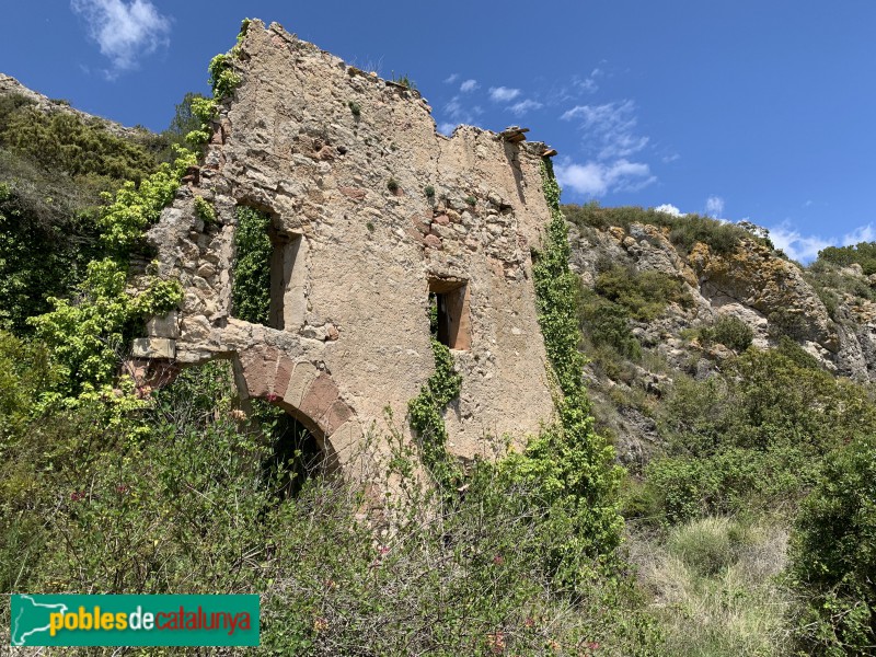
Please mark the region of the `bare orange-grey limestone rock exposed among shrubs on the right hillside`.
[[[644, 211], [642, 212], [645, 214]], [[696, 221], [698, 219], [691, 219]], [[826, 370], [857, 381], [876, 381], [876, 281], [860, 266], [807, 270], [754, 239], [730, 251], [703, 242], [689, 250], [670, 240], [665, 226], [569, 226], [572, 266], [587, 288], [597, 286], [606, 266], [659, 274], [683, 286], [689, 303], [668, 303], [648, 321], [631, 321], [632, 335], [649, 350], [641, 362], [607, 371], [596, 362], [586, 376], [600, 429], [615, 438], [619, 457], [634, 468], [657, 447], [648, 413], [683, 372], [711, 376], [734, 355], [722, 344], [704, 344], [699, 332], [722, 316], [740, 320], [752, 345], [774, 347], [787, 336]], [[827, 266], [827, 265], [825, 265]], [[826, 300], [828, 303], [826, 303]]]

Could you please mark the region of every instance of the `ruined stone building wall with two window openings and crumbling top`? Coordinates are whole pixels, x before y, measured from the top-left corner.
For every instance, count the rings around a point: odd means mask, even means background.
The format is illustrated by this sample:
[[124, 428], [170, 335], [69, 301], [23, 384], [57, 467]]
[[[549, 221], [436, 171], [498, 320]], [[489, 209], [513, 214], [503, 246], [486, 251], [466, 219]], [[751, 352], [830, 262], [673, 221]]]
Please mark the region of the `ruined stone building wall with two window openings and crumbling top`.
[[[433, 292], [463, 376], [449, 450], [473, 458], [538, 431], [553, 408], [531, 256], [550, 220], [544, 145], [520, 130], [439, 135], [417, 92], [276, 24], [250, 25], [234, 67], [203, 166], [149, 233], [184, 304], [149, 322], [137, 353], [232, 359], [245, 395], [281, 405], [343, 465], [433, 372]], [[198, 219], [196, 196], [216, 222]], [[268, 325], [232, 304], [241, 205], [272, 218]]]

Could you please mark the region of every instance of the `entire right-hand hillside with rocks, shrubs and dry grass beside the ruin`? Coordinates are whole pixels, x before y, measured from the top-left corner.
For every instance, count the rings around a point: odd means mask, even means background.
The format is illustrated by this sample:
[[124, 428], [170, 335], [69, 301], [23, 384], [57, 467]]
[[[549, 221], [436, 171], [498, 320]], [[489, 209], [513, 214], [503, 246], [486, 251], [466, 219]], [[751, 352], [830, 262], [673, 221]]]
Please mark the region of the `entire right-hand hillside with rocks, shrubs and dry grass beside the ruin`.
[[[876, 397], [868, 370], [838, 376], [868, 316], [874, 245], [800, 269], [751, 224], [564, 211], [597, 427], [627, 464], [631, 557], [666, 654], [874, 654], [876, 560], [861, 542], [876, 497], [860, 477], [876, 462]], [[786, 306], [752, 308], [769, 279], [723, 274], [749, 257], [749, 276], [783, 273]], [[834, 322], [833, 354], [807, 339], [807, 312]]]

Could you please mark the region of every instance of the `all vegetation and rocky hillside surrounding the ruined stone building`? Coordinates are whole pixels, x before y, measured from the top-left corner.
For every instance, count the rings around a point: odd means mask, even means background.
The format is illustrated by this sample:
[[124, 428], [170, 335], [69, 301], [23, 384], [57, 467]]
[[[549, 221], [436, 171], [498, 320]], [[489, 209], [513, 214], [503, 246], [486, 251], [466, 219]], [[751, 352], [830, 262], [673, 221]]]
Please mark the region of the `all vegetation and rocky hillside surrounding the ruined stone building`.
[[[752, 224], [561, 211], [545, 162], [533, 274], [556, 422], [463, 469], [438, 345], [408, 417], [361, 447], [395, 496], [331, 476], [227, 361], [138, 388], [130, 339], [182, 298], [143, 266], [143, 233], [233, 57], [160, 137], [0, 97], [4, 593], [260, 593], [263, 654], [876, 654], [876, 244], [804, 270]], [[235, 303], [261, 316], [263, 217], [239, 219], [255, 228]]]

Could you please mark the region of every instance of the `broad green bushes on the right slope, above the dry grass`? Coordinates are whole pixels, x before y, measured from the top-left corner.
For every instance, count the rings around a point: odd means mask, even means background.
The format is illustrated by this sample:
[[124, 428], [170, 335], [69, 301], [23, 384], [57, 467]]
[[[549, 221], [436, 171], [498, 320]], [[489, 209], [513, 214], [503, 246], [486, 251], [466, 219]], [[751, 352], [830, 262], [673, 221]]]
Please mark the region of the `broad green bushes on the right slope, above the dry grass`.
[[705, 381], [677, 377], [659, 407], [665, 453], [645, 471], [657, 520], [795, 505], [820, 459], [876, 420], [866, 389], [812, 367], [791, 344], [748, 350]]

